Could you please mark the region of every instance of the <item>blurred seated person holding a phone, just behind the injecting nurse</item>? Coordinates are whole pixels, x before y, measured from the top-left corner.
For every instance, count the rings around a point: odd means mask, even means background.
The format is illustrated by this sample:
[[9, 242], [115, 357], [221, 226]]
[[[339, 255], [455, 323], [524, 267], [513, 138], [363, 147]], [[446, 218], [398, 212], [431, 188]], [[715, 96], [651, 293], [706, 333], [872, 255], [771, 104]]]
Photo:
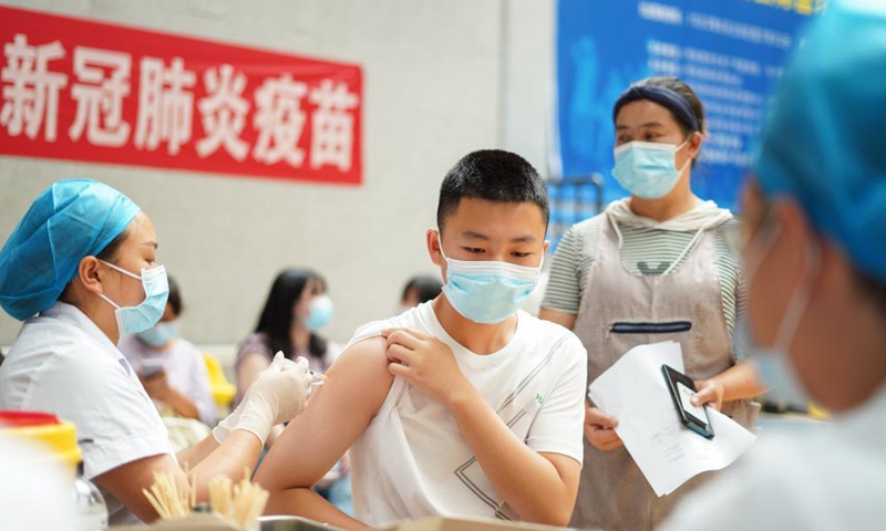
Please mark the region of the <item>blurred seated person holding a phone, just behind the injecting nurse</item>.
[[206, 363], [199, 348], [182, 339], [182, 292], [172, 277], [168, 282], [169, 298], [159, 322], [124, 337], [119, 348], [162, 416], [196, 418], [215, 426], [218, 412], [209, 391]]

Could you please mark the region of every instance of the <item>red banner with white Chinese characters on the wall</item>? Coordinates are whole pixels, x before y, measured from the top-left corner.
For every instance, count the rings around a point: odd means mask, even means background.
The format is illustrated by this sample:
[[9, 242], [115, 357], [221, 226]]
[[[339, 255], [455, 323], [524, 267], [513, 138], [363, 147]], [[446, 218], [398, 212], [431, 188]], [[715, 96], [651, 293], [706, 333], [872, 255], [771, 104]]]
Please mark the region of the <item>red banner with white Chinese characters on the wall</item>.
[[0, 154], [360, 184], [362, 72], [0, 7]]

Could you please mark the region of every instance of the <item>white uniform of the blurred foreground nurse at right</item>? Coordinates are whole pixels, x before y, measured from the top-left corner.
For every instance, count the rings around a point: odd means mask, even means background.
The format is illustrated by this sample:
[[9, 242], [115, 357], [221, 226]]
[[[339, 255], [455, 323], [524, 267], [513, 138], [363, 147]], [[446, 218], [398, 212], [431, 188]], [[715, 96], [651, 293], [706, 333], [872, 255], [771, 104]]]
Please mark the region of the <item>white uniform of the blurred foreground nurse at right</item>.
[[820, 434], [770, 437], [661, 529], [886, 529], [886, 388]]

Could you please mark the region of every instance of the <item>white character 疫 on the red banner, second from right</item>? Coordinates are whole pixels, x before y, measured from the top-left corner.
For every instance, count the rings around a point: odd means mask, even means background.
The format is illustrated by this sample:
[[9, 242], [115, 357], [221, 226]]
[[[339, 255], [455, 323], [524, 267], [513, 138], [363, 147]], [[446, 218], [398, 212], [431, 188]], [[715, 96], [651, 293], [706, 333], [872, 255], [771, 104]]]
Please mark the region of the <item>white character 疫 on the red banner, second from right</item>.
[[258, 140], [253, 150], [256, 160], [276, 164], [286, 160], [295, 167], [305, 160], [305, 150], [298, 147], [307, 116], [301, 100], [308, 85], [292, 81], [285, 74], [265, 81], [256, 91], [256, 115], [253, 123], [258, 129]]

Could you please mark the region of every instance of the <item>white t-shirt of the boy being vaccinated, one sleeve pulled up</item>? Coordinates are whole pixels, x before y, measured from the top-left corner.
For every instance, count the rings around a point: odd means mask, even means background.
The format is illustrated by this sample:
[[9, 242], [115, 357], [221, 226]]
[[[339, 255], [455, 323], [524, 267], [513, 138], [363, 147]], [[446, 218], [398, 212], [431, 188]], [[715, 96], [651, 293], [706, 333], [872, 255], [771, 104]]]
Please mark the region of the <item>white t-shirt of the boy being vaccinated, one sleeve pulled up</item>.
[[[452, 348], [462, 373], [529, 448], [581, 462], [585, 347], [563, 326], [523, 311], [517, 316], [514, 337], [488, 355], [456, 343], [430, 302], [362, 326], [346, 350], [388, 327], [433, 335]], [[449, 410], [399, 376], [350, 456], [354, 517], [370, 525], [429, 516], [518, 520]]]

